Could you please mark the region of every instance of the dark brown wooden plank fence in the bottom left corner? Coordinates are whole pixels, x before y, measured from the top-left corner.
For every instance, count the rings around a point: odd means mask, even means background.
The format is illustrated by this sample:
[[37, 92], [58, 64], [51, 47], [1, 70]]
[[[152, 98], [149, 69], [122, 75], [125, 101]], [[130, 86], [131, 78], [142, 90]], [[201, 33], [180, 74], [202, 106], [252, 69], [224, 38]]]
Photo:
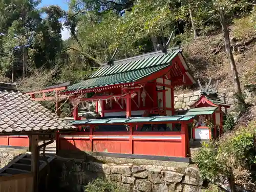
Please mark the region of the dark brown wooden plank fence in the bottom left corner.
[[33, 192], [32, 174], [18, 174], [0, 177], [1, 192]]

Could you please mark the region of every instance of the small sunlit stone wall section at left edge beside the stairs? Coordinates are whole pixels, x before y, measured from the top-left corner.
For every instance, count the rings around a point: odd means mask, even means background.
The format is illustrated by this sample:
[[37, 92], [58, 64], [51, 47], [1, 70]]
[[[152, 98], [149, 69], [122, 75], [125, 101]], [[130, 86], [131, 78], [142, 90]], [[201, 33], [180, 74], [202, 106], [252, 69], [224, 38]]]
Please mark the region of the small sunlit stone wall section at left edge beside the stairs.
[[26, 150], [15, 150], [13, 148], [0, 148], [0, 168], [5, 167], [15, 157], [26, 153]]

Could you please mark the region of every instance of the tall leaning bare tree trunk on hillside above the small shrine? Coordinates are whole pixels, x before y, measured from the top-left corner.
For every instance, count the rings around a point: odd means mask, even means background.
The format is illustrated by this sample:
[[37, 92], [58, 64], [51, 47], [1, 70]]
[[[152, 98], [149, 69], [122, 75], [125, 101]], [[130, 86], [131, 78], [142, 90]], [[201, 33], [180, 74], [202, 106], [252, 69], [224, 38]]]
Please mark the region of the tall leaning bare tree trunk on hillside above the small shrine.
[[225, 50], [226, 50], [226, 54], [227, 54], [227, 57], [228, 57], [228, 60], [230, 63], [230, 69], [232, 72], [232, 77], [233, 77], [233, 82], [234, 82], [234, 90], [236, 91], [236, 93], [239, 97], [239, 102], [241, 104], [245, 104], [245, 101], [244, 101], [244, 98], [242, 95], [242, 91], [241, 91], [241, 86], [240, 86], [240, 81], [239, 81], [239, 77], [238, 77], [236, 63], [234, 62], [234, 57], [233, 57], [233, 53], [232, 53], [231, 46], [230, 46], [229, 31], [228, 31], [228, 27], [225, 22], [225, 16], [223, 13], [223, 9], [219, 8], [219, 11], [220, 11], [220, 20], [221, 20], [222, 31], [223, 31], [224, 38], [225, 38]]

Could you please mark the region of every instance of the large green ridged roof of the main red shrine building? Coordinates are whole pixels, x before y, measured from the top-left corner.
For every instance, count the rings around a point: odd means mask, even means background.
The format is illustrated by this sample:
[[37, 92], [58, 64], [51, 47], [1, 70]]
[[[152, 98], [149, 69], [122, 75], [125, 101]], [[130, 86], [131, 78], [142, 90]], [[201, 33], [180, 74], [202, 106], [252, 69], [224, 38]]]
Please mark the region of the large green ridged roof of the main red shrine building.
[[91, 89], [110, 86], [119, 83], [131, 83], [151, 75], [170, 65], [180, 50], [175, 50], [168, 54], [160, 54], [152, 57], [132, 59], [131, 62], [120, 63], [118, 65], [101, 67], [90, 79], [69, 86], [66, 91], [76, 91], [78, 89]]

